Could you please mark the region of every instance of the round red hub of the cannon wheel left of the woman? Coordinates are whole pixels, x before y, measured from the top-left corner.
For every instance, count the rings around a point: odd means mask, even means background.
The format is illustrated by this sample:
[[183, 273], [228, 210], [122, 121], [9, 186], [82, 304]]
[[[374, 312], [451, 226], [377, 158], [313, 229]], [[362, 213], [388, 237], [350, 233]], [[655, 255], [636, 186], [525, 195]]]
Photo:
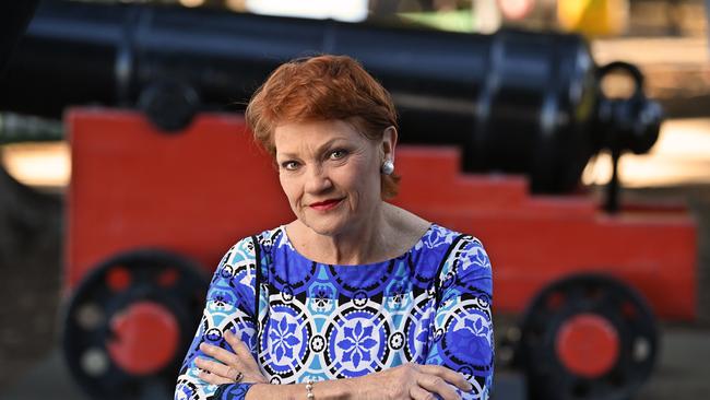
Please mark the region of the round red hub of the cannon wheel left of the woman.
[[108, 353], [126, 372], [147, 375], [165, 367], [175, 356], [180, 330], [173, 314], [154, 302], [131, 304], [110, 321], [114, 338]]

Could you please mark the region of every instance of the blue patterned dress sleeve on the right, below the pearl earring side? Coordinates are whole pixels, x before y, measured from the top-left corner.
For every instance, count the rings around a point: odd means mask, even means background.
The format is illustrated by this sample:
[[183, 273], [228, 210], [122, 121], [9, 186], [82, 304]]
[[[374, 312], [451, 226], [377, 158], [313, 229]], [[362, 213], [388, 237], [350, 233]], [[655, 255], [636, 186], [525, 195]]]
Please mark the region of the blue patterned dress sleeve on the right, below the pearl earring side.
[[473, 390], [459, 391], [462, 399], [488, 399], [494, 369], [493, 278], [481, 242], [459, 237], [442, 261], [438, 283], [425, 363], [463, 374]]

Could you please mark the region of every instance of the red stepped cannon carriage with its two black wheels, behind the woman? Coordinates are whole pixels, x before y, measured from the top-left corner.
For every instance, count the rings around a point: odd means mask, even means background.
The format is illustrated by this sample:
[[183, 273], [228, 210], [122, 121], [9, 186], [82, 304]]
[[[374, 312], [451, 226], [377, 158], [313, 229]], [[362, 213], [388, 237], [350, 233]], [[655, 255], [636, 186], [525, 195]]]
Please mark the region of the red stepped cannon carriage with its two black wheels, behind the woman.
[[[174, 133], [128, 110], [68, 121], [71, 369], [97, 397], [169, 396], [205, 277], [236, 239], [293, 214], [239, 116], [201, 114]], [[496, 311], [525, 311], [517, 357], [533, 395], [630, 396], [653, 366], [654, 316], [695, 317], [684, 212], [612, 215], [585, 196], [532, 196], [522, 176], [462, 173], [453, 148], [401, 145], [397, 160], [395, 203], [486, 244]]]

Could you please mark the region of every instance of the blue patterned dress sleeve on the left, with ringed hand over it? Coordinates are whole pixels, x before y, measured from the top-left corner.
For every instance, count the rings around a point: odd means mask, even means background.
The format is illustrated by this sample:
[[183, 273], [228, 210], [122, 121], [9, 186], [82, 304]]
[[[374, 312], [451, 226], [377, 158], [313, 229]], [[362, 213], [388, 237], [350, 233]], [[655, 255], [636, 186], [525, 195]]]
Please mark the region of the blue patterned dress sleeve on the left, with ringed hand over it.
[[200, 370], [194, 360], [211, 358], [200, 350], [202, 342], [233, 352], [223, 336], [227, 329], [256, 354], [257, 245], [251, 237], [240, 240], [224, 255], [214, 271], [200, 326], [180, 368], [175, 400], [244, 399], [251, 387], [251, 384], [208, 384], [198, 376]]

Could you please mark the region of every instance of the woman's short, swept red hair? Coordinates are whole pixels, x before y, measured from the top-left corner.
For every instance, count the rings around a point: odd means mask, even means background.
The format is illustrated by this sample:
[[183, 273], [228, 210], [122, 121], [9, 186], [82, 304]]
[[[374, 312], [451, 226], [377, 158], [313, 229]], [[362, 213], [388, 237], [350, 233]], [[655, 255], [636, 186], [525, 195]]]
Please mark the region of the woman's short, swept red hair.
[[[246, 110], [255, 139], [273, 157], [274, 130], [289, 122], [340, 119], [370, 140], [397, 123], [390, 94], [354, 59], [322, 55], [280, 66], [257, 90]], [[400, 178], [382, 175], [382, 198], [397, 195]]]

